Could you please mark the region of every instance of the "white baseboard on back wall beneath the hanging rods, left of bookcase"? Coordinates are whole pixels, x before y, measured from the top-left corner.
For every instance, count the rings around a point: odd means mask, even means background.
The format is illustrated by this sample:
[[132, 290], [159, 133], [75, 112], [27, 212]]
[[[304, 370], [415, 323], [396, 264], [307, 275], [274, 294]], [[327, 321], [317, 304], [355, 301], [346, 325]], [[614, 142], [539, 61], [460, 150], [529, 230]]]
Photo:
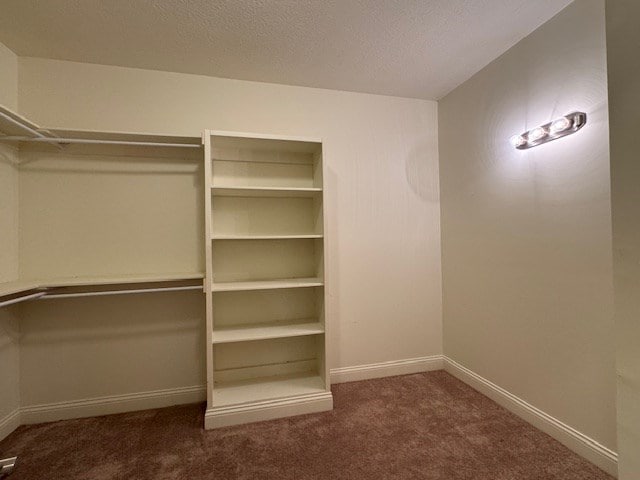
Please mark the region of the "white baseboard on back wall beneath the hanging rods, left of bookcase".
[[106, 397], [72, 400], [67, 402], [31, 405], [20, 409], [22, 425], [54, 422], [70, 418], [96, 417], [112, 413], [148, 410], [205, 400], [204, 385], [169, 388], [149, 392], [110, 395]]

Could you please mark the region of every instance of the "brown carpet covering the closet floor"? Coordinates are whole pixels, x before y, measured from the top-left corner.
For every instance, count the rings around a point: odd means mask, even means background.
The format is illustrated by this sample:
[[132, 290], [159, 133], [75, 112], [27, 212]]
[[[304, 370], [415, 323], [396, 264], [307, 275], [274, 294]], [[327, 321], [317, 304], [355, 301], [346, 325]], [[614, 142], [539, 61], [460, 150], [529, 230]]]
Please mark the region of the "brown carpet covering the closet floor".
[[611, 480], [444, 371], [333, 386], [331, 412], [202, 429], [183, 405], [18, 428], [7, 480]]

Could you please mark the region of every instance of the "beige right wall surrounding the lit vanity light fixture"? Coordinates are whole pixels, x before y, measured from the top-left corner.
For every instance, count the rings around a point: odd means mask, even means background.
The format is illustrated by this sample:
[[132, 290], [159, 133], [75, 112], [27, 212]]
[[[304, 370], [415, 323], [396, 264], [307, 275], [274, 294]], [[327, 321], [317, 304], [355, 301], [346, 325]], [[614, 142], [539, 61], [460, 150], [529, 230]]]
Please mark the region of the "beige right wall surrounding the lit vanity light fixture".
[[[580, 0], [440, 102], [444, 351], [615, 450], [605, 62]], [[574, 110], [577, 134], [510, 145]]]

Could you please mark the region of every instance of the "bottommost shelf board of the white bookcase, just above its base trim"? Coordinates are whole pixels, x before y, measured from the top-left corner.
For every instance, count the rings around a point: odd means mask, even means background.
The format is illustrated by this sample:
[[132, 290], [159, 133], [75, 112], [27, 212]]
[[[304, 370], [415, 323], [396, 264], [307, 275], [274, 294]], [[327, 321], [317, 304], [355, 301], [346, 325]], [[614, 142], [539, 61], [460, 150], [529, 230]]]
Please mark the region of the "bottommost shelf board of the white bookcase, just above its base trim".
[[324, 381], [314, 373], [225, 382], [213, 387], [212, 407], [323, 393]]

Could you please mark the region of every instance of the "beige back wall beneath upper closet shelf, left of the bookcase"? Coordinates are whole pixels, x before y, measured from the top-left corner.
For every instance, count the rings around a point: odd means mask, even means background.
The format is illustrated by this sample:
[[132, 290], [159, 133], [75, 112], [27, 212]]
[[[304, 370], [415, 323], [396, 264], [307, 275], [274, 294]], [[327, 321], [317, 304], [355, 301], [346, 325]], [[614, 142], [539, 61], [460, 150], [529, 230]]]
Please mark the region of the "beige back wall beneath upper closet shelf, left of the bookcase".
[[[22, 278], [204, 271], [200, 152], [23, 147], [20, 159]], [[27, 302], [20, 325], [23, 406], [205, 381], [202, 293]]]

